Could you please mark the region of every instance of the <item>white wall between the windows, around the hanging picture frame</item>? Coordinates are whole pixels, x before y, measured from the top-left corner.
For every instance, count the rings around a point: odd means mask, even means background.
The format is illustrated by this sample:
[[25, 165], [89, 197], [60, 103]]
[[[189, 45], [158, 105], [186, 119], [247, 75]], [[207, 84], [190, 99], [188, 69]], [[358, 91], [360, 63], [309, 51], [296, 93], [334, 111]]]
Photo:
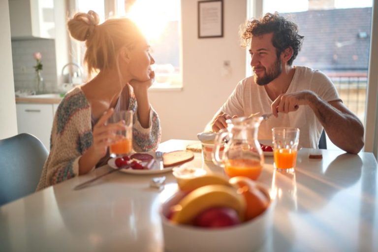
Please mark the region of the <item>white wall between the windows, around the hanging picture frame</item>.
[[[158, 112], [162, 141], [197, 139], [239, 80], [246, 74], [245, 49], [240, 47], [239, 26], [247, 18], [246, 0], [223, 0], [223, 37], [197, 36], [197, 0], [182, 0], [183, 85], [181, 91], [150, 91]], [[222, 77], [223, 61], [232, 73]]]

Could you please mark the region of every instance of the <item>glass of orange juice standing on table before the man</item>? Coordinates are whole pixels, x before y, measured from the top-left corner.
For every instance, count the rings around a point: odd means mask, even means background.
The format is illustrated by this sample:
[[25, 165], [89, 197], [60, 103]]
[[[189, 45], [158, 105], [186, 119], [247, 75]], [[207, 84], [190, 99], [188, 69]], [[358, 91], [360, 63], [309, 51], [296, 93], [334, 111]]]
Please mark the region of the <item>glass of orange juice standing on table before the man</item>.
[[297, 161], [299, 128], [275, 127], [273, 134], [274, 166], [277, 169], [294, 170]]

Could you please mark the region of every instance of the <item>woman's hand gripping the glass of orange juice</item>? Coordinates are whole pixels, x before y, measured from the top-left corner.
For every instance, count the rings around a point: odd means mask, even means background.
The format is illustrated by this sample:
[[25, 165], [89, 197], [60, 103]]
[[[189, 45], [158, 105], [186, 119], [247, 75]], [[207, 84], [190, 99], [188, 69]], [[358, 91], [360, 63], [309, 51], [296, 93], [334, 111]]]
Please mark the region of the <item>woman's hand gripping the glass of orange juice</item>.
[[125, 123], [122, 121], [114, 124], [106, 124], [113, 113], [113, 108], [107, 110], [93, 127], [92, 148], [94, 154], [99, 158], [105, 156], [109, 145], [117, 142], [122, 138], [122, 135], [117, 135], [116, 132], [120, 130], [126, 130]]

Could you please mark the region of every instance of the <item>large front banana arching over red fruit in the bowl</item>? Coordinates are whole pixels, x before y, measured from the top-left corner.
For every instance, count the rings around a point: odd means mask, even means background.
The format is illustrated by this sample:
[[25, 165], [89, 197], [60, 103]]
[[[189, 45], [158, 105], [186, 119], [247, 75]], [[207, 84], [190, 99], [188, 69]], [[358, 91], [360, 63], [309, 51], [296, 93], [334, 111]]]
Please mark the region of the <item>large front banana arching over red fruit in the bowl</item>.
[[212, 207], [230, 207], [235, 209], [240, 221], [244, 221], [246, 201], [234, 187], [209, 185], [189, 192], [177, 205], [171, 221], [178, 224], [190, 224], [196, 216]]

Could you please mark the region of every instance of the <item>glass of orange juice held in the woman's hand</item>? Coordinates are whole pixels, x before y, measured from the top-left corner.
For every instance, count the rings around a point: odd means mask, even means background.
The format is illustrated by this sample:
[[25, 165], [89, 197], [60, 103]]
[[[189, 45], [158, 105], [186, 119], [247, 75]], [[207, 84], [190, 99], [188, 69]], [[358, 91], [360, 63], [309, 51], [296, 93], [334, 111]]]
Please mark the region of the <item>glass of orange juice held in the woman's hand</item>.
[[118, 123], [124, 121], [126, 125], [125, 130], [116, 132], [122, 135], [122, 139], [109, 146], [110, 157], [127, 155], [132, 151], [132, 110], [115, 111], [114, 114], [108, 119], [108, 124]]

